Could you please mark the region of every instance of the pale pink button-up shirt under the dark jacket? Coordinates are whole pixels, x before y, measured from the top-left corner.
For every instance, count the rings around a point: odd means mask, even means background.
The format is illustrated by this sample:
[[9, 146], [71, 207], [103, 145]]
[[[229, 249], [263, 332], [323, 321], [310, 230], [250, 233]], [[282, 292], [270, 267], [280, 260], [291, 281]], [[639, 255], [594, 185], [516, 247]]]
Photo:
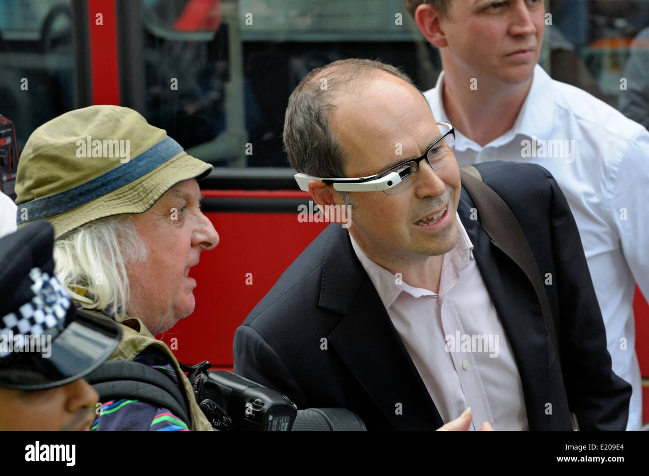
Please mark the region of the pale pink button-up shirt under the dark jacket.
[[[458, 242], [444, 255], [437, 294], [403, 282], [350, 239], [442, 420], [455, 420], [471, 407], [471, 430], [479, 430], [483, 421], [494, 430], [527, 430], [516, 360], [476, 266], [471, 240], [456, 218]], [[463, 336], [475, 344], [469, 346]]]

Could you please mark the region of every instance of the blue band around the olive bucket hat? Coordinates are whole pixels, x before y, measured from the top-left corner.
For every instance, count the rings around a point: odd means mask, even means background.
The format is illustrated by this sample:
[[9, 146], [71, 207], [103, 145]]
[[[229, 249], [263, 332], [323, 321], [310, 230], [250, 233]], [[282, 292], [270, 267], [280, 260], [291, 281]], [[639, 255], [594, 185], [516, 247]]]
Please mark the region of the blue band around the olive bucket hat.
[[[154, 168], [164, 164], [170, 158], [182, 151], [180, 144], [171, 137], [165, 137], [150, 149], [125, 164], [109, 170], [99, 177], [77, 185], [69, 190], [64, 190], [49, 197], [38, 198], [18, 205], [16, 210], [16, 224], [33, 221], [48, 216], [58, 215], [88, 203], [96, 198], [106, 195], [117, 188], [146, 175]], [[23, 208], [27, 208], [28, 219], [21, 219]]]

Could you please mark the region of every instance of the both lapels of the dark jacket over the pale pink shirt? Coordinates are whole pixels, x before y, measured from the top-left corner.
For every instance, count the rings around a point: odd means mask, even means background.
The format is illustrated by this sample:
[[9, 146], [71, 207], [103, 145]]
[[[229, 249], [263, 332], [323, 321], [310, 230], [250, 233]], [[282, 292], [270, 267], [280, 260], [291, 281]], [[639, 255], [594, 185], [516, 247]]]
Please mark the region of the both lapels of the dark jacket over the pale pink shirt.
[[[522, 382], [530, 430], [547, 430], [554, 360], [541, 305], [525, 273], [476, 219], [465, 190], [458, 207], [480, 274], [506, 332]], [[365, 269], [339, 225], [325, 250], [319, 304], [343, 314], [329, 340], [395, 429], [437, 429], [443, 421]], [[402, 414], [395, 412], [401, 403]]]

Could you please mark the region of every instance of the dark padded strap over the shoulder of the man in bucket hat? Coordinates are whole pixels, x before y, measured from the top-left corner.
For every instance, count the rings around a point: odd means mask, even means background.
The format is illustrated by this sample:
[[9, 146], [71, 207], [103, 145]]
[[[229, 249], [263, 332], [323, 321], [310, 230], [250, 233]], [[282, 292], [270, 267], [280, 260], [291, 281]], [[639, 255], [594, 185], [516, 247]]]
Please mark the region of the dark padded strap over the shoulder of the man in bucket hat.
[[100, 401], [134, 399], [168, 408], [191, 428], [188, 403], [180, 389], [160, 371], [124, 360], [108, 360], [84, 377], [90, 383]]

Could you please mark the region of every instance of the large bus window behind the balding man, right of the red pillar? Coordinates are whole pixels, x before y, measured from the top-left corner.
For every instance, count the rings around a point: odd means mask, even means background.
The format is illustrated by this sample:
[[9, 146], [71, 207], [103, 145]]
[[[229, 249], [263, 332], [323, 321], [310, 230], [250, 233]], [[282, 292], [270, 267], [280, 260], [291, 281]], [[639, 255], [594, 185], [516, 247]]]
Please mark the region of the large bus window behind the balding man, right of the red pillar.
[[[191, 155], [231, 168], [288, 168], [282, 126], [289, 94], [317, 66], [351, 56], [401, 66], [432, 87], [439, 54], [401, 0], [147, 0], [141, 18], [141, 89], [131, 106]], [[138, 40], [139, 41], [139, 40]], [[122, 88], [124, 90], [124, 88]]]

